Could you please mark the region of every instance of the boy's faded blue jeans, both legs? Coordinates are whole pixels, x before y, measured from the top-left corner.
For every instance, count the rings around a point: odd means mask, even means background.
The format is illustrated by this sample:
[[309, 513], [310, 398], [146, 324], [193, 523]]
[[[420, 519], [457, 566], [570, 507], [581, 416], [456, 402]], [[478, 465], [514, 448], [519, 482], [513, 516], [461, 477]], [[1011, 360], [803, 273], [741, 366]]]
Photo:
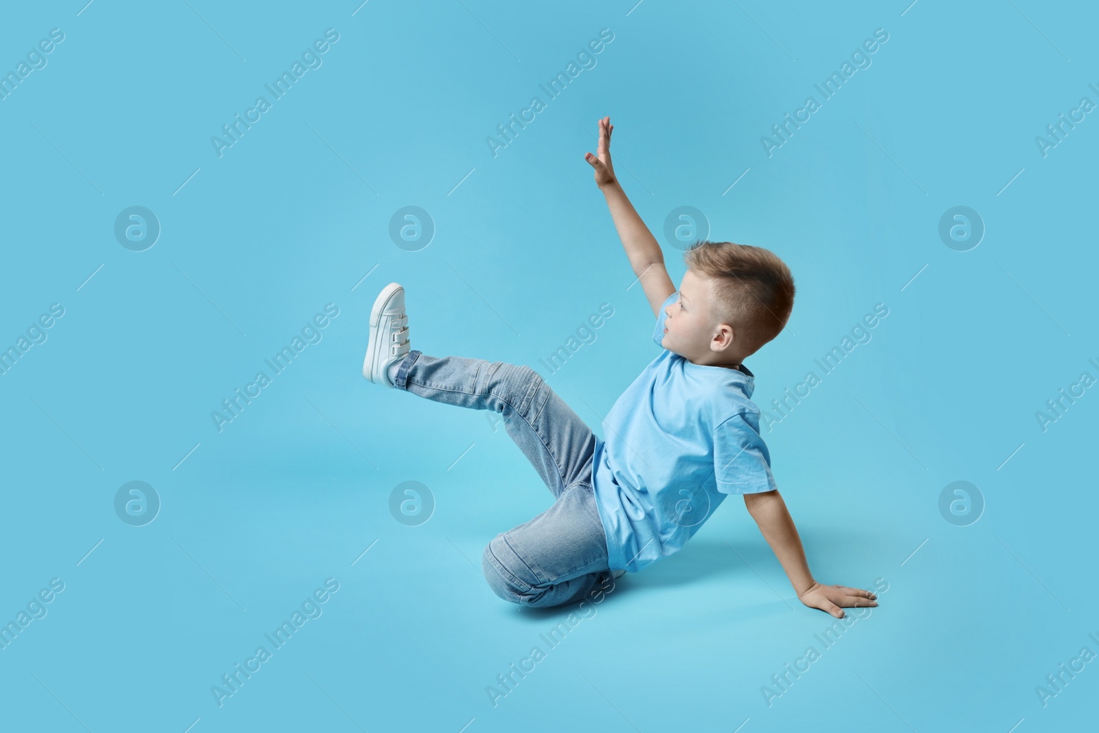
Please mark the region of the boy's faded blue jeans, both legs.
[[508, 435], [556, 498], [485, 547], [481, 570], [497, 596], [544, 608], [610, 585], [607, 535], [591, 488], [595, 433], [534, 369], [410, 351], [395, 381], [429, 400], [500, 413]]

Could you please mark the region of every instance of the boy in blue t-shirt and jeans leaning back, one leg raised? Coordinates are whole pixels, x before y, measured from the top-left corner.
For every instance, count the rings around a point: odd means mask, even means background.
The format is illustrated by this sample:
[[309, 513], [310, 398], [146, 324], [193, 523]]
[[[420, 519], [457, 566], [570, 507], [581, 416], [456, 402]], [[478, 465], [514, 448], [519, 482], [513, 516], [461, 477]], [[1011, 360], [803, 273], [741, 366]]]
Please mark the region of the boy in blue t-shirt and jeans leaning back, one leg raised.
[[664, 349], [611, 408], [606, 442], [530, 367], [411, 349], [396, 282], [370, 312], [363, 376], [501, 413], [553, 492], [550, 509], [498, 534], [481, 555], [485, 578], [506, 600], [553, 607], [595, 597], [597, 584], [606, 589], [678, 552], [726, 495], [740, 493], [802, 603], [837, 619], [843, 608], [877, 606], [870, 591], [813, 579], [759, 436], [754, 375], [742, 362], [785, 327], [795, 292], [789, 269], [767, 249], [702, 242], [686, 253], [677, 292], [659, 245], [614, 177], [612, 130], [609, 116], [599, 121], [598, 156], [585, 159]]

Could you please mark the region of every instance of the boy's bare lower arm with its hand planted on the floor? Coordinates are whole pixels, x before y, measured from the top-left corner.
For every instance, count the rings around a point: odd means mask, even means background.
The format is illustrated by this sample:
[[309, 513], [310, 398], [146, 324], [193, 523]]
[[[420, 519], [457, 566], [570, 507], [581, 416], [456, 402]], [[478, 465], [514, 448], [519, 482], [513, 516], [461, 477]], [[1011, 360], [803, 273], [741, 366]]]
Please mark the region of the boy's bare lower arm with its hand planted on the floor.
[[[745, 493], [744, 506], [756, 521], [764, 538], [782, 564], [790, 585], [802, 603], [843, 618], [843, 608], [854, 606], [877, 606], [877, 596], [861, 588], [847, 586], [822, 586], [813, 580], [801, 547], [801, 538], [793, 526], [790, 512], [786, 509], [778, 490]], [[841, 608], [843, 607], [843, 608]]]

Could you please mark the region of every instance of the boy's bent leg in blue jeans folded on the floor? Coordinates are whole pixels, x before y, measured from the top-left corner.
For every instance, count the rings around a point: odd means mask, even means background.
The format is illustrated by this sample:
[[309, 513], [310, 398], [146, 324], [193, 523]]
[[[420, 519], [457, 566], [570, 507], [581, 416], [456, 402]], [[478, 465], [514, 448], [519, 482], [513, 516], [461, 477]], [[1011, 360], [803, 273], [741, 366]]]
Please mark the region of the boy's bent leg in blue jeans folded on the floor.
[[607, 536], [591, 492], [591, 462], [585, 480], [569, 486], [554, 504], [498, 534], [481, 554], [481, 570], [500, 598], [536, 608], [564, 606], [614, 585], [608, 570]]

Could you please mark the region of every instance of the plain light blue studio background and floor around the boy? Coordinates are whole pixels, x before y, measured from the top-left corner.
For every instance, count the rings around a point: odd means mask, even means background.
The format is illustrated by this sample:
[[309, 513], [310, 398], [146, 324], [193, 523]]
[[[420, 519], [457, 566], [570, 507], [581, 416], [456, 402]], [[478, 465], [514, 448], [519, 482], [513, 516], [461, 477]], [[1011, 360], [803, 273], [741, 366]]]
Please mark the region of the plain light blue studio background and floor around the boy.
[[[1099, 101], [1094, 9], [356, 5], [4, 10], [0, 69], [53, 27], [65, 41], [0, 101], [0, 346], [51, 303], [65, 315], [0, 376], [0, 620], [51, 578], [65, 590], [0, 651], [3, 728], [1094, 725], [1099, 663], [1046, 707], [1035, 693], [1081, 647], [1099, 653], [1099, 396], [1045, 432], [1035, 419], [1081, 371], [1099, 377], [1099, 121], [1045, 157], [1035, 144], [1081, 97]], [[323, 65], [219, 158], [210, 137], [328, 27], [340, 40]], [[486, 136], [545, 101], [539, 85], [604, 27], [597, 66], [493, 157]], [[889, 40], [873, 65], [768, 157], [761, 136], [820, 101], [813, 84], [878, 27]], [[656, 356], [584, 160], [606, 114], [676, 284], [682, 245], [662, 232], [680, 206], [704, 212], [711, 238], [768, 247], [793, 271], [788, 327], [747, 362], [761, 407], [889, 308], [765, 434], [814, 576], [889, 584], [770, 707], [761, 687], [833, 619], [798, 602], [735, 501], [623, 578], [493, 707], [486, 686], [568, 610], [499, 600], [480, 552], [552, 497], [491, 413], [360, 375], [374, 297], [399, 281], [413, 348], [536, 367], [602, 434]], [[145, 252], [113, 235], [131, 206], [163, 227]], [[417, 252], [388, 234], [406, 206], [437, 227]], [[937, 234], [955, 206], [987, 227], [968, 252]], [[330, 302], [323, 338], [219, 432], [221, 400]], [[548, 375], [539, 359], [600, 303], [613, 316]], [[114, 513], [131, 480], [163, 502], [145, 526]], [[436, 502], [419, 526], [388, 509], [408, 480]], [[969, 526], [939, 511], [955, 480], [985, 497]], [[323, 614], [219, 708], [211, 686], [329, 577], [340, 590]]]

